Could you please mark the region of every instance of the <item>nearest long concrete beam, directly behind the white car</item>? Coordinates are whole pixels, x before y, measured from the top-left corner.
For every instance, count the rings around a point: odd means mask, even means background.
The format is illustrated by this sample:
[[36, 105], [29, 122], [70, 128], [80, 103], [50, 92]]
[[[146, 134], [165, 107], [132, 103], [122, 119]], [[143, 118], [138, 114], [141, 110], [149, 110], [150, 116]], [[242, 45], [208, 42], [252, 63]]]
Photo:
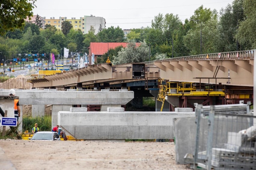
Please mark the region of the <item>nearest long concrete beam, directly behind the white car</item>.
[[77, 139], [174, 139], [173, 119], [194, 116], [194, 112], [59, 111], [57, 124]]

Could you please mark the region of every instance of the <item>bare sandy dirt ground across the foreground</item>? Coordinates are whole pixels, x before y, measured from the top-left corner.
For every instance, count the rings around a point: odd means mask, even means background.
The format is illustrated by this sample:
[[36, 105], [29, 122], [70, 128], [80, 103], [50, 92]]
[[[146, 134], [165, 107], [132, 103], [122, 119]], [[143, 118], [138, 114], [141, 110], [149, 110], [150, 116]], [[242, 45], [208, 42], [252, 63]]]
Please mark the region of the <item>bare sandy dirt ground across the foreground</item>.
[[[1, 148], [4, 155], [1, 157]], [[174, 142], [0, 140], [0, 158], [17, 170], [189, 169], [175, 163]], [[1, 165], [0, 160], [0, 165]], [[1, 169], [3, 166], [1, 166]], [[3, 169], [8, 169], [4, 167]]]

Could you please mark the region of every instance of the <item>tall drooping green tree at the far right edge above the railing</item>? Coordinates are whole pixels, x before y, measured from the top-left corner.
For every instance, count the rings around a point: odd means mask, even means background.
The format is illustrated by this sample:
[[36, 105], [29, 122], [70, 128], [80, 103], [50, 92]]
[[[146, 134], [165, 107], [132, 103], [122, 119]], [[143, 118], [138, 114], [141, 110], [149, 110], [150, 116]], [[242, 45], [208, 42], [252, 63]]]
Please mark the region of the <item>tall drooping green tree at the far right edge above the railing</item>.
[[242, 21], [238, 29], [238, 40], [244, 46], [244, 49], [256, 49], [256, 1], [244, 0], [243, 9], [245, 20]]

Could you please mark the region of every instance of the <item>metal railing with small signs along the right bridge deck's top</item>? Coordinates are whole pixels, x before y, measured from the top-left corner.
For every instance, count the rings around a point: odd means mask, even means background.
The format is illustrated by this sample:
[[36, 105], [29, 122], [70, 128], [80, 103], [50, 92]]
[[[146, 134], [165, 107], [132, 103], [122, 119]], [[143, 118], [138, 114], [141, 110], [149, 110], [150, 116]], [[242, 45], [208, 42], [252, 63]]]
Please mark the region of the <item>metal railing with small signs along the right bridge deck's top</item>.
[[145, 65], [148, 66], [148, 65], [154, 65], [155, 61], [253, 59], [254, 51], [255, 50], [200, 54], [200, 55], [191, 55], [191, 56], [184, 56], [184, 57], [166, 58], [162, 60], [147, 61], [143, 63], [145, 63]]

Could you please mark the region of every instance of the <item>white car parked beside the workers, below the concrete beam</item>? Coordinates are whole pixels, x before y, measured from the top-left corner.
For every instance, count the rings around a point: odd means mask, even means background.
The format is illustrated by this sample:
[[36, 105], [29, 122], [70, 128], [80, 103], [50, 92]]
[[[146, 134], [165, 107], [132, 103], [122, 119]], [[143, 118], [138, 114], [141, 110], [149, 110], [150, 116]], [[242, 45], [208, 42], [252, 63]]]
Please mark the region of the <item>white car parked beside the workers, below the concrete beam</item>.
[[35, 133], [30, 140], [60, 140], [57, 132], [42, 131]]

